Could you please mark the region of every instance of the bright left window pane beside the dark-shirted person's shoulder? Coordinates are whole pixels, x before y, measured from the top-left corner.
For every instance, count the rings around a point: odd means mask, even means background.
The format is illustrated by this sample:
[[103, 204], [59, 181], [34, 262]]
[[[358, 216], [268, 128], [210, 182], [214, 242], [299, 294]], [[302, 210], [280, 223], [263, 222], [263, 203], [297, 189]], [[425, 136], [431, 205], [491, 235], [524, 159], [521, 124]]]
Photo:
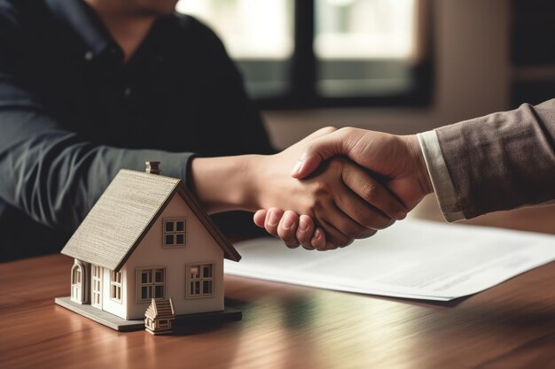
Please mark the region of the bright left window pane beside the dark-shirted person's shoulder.
[[223, 39], [251, 96], [281, 96], [290, 88], [293, 0], [183, 0], [176, 9], [202, 19]]

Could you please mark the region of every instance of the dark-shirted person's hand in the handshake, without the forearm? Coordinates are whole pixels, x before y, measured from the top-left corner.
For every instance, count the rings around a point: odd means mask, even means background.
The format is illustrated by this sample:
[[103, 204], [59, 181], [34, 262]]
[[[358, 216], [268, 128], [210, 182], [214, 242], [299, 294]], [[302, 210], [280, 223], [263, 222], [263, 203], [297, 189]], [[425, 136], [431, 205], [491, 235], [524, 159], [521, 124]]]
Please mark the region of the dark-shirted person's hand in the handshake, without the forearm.
[[324, 248], [318, 250], [345, 246], [355, 238], [375, 234], [393, 219], [402, 219], [407, 211], [379, 181], [345, 158], [326, 161], [304, 181], [291, 182], [288, 174], [284, 176], [289, 173], [287, 162], [298, 158], [309, 142], [329, 132], [317, 131], [279, 154], [264, 157], [254, 170], [260, 181], [255, 186], [260, 188], [256, 196], [259, 209], [287, 209], [316, 220], [326, 238]]

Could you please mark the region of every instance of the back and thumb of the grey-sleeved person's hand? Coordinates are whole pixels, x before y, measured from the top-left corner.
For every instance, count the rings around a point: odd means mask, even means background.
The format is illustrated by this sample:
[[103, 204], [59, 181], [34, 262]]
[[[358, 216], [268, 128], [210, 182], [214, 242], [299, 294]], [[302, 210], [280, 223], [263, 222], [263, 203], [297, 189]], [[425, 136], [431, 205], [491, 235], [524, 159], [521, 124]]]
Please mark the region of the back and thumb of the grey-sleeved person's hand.
[[[388, 135], [350, 127], [310, 142], [301, 159], [294, 165], [292, 176], [305, 178], [317, 170], [324, 160], [336, 155], [345, 155], [371, 173], [379, 175], [381, 183], [403, 201], [409, 211], [424, 196], [433, 192], [415, 135]], [[373, 184], [367, 183], [366, 186], [370, 188], [367, 192], [376, 195]], [[400, 213], [395, 218], [399, 219], [402, 215]]]

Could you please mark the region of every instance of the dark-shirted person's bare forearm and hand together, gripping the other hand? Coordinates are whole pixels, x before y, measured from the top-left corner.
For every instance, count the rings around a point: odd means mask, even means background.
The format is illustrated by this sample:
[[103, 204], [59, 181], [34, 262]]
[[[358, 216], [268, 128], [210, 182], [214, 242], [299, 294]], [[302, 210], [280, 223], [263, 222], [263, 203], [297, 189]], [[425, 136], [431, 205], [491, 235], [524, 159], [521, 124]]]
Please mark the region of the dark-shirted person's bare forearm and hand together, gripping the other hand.
[[[303, 241], [303, 246], [318, 250], [346, 246], [355, 238], [389, 226], [393, 219], [403, 218], [408, 210], [379, 181], [347, 158], [327, 160], [302, 181], [291, 177], [291, 163], [308, 149], [310, 142], [334, 131], [335, 128], [320, 129], [270, 156], [194, 158], [189, 186], [208, 212], [285, 209], [316, 222], [310, 226], [315, 230], [311, 241]], [[290, 222], [287, 217], [280, 224], [288, 226], [285, 220]], [[300, 221], [293, 219], [295, 224], [285, 232], [289, 246], [300, 243], [288, 238]]]

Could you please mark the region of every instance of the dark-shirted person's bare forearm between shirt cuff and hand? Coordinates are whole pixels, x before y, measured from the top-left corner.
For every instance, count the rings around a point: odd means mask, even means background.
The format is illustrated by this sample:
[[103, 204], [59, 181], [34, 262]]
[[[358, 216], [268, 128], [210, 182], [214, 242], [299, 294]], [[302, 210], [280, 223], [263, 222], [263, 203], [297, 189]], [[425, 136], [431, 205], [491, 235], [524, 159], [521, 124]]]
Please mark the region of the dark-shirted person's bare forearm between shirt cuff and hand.
[[241, 155], [221, 158], [193, 158], [189, 188], [209, 213], [258, 209], [254, 166], [264, 157]]

